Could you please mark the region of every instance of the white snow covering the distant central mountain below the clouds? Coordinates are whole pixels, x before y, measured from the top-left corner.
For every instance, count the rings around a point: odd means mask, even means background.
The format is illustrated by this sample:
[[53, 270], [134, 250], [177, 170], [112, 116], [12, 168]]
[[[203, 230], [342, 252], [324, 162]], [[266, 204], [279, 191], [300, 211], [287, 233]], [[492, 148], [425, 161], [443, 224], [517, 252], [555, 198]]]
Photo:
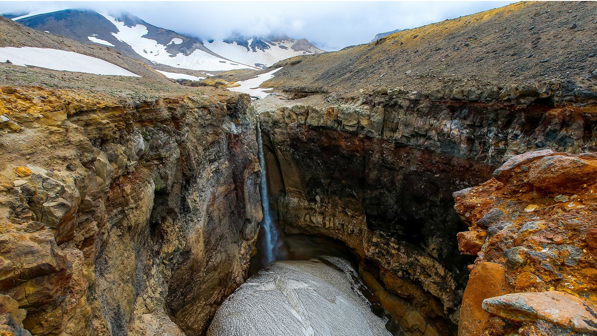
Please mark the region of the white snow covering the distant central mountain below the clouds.
[[[251, 45], [253, 39], [247, 40], [248, 45]], [[247, 47], [236, 44], [236, 42], [226, 43], [223, 41], [213, 41], [205, 43], [205, 47], [208, 47], [211, 51], [219, 54], [227, 59], [236, 60], [238, 62], [256, 65], [263, 64], [265, 66], [272, 66], [276, 62], [287, 59], [289, 57], [305, 55], [305, 54], [319, 54], [324, 51], [319, 50], [316, 47], [310, 48], [312, 53], [306, 51], [294, 51], [292, 46], [296, 41], [275, 41], [272, 42], [275, 45], [270, 44], [270, 48], [266, 50], [257, 49], [256, 51], [247, 50]]]

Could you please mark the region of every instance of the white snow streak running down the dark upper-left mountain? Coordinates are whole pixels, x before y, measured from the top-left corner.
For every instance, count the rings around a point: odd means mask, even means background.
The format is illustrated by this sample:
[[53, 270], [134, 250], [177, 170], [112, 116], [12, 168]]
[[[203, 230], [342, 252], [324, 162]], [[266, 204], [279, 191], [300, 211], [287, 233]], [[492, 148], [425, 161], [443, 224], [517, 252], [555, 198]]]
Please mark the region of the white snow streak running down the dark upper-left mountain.
[[[193, 51], [189, 56], [185, 56], [183, 53], [171, 56], [166, 50], [166, 45], [159, 44], [155, 39], [143, 37], [147, 34], [146, 26], [135, 25], [129, 27], [126, 23], [119, 21], [115, 17], [103, 13], [99, 14], [116, 26], [118, 32], [112, 33], [116, 39], [130, 45], [137, 54], [140, 54], [155, 64], [164, 64], [175, 68], [210, 71], [228, 71], [247, 68], [254, 69], [252, 66], [224, 60], [198, 49]], [[174, 38], [170, 43], [181, 43], [177, 40], [180, 39]]]

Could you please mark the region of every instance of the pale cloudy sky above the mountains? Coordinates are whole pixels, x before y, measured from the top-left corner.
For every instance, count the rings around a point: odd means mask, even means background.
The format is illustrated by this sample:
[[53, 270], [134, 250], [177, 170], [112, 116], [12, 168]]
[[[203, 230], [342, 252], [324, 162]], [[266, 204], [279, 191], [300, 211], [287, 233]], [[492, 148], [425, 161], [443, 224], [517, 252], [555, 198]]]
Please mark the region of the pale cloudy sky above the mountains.
[[286, 34], [333, 51], [377, 33], [416, 28], [515, 1], [0, 1], [0, 13], [88, 8], [128, 11], [152, 25], [196, 38]]

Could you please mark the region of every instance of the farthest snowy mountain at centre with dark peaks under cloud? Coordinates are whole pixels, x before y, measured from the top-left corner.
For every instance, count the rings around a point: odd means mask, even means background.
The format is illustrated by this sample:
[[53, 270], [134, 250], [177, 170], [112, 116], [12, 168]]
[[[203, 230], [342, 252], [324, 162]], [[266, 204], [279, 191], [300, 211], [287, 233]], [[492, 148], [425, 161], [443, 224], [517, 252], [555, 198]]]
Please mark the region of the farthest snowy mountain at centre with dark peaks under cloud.
[[237, 36], [223, 41], [208, 41], [205, 46], [227, 59], [238, 60], [257, 68], [267, 68], [289, 57], [325, 53], [307, 39], [293, 39], [286, 35], [250, 38]]

